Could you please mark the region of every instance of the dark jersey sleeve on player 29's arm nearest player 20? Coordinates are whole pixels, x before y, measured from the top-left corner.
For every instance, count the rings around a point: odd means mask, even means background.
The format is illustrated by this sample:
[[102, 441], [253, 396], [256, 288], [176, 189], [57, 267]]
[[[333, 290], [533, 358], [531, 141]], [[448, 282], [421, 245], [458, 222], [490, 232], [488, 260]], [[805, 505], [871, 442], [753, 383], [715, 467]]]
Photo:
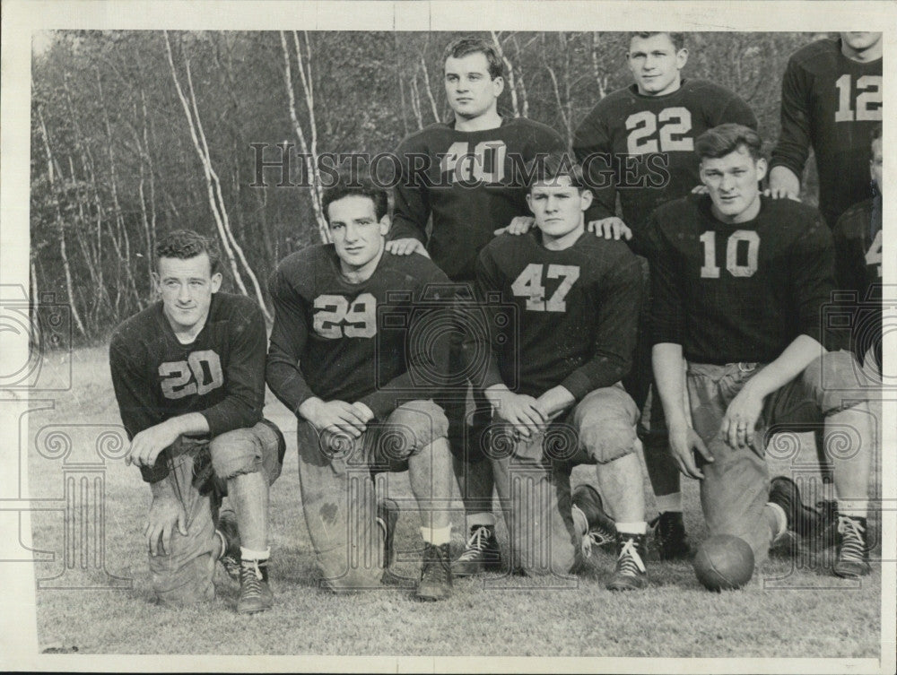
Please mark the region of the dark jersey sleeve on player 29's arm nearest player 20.
[[271, 275], [268, 292], [274, 304], [274, 327], [268, 345], [265, 380], [274, 396], [299, 415], [299, 406], [315, 395], [299, 368], [309, 337], [304, 302], [280, 268]]

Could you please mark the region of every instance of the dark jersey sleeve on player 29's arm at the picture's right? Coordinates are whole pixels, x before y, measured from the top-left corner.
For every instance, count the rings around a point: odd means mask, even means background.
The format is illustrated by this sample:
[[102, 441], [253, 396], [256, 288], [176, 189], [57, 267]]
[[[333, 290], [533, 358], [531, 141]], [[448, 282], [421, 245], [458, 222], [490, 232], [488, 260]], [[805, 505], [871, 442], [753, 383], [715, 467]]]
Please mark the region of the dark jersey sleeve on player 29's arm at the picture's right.
[[437, 396], [441, 384], [434, 381], [432, 374], [448, 373], [448, 341], [422, 340], [420, 337], [433, 334], [427, 324], [437, 327], [446, 325], [445, 317], [452, 311], [453, 298], [448, 297], [451, 291], [430, 293], [428, 286], [431, 284], [438, 284], [443, 289], [449, 288], [448, 277], [433, 266], [416, 290], [414, 299], [418, 302], [413, 307], [405, 340], [405, 372], [360, 399], [378, 420], [386, 420], [389, 413], [395, 411], [403, 399], [408, 398], [409, 392], [414, 393], [415, 399], [426, 400]]

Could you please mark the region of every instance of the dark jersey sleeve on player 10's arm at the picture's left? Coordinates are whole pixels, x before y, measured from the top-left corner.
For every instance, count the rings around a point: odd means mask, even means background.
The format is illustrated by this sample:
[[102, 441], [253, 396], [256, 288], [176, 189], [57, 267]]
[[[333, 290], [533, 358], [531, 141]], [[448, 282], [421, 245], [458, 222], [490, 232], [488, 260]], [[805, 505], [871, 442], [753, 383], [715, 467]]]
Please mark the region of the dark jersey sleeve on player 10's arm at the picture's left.
[[672, 249], [663, 246], [660, 224], [651, 215], [646, 229], [644, 253], [651, 270], [651, 343], [683, 344], [685, 307], [680, 287], [682, 276], [676, 270]]

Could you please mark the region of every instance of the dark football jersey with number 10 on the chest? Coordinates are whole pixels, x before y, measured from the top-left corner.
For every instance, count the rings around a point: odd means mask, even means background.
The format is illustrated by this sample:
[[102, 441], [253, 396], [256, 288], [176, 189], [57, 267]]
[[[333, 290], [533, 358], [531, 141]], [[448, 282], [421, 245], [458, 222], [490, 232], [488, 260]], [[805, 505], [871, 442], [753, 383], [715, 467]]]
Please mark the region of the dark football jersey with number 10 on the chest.
[[667, 203], [649, 220], [653, 340], [697, 363], [769, 363], [798, 335], [826, 346], [820, 312], [834, 289], [832, 234], [813, 207], [762, 198], [727, 224], [710, 197]]

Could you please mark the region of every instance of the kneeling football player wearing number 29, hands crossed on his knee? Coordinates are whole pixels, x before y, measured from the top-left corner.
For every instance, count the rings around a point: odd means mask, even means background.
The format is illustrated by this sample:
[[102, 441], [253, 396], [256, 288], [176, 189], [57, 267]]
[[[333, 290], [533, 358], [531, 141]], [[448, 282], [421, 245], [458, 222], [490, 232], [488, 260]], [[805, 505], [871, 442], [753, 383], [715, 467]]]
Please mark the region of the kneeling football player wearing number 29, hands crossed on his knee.
[[424, 255], [384, 250], [387, 194], [370, 181], [340, 177], [322, 205], [333, 243], [289, 255], [271, 277], [267, 361], [268, 385], [299, 418], [302, 508], [318, 566], [334, 592], [379, 587], [397, 512], [391, 500], [375, 511], [372, 474], [407, 470], [425, 542], [417, 596], [440, 600], [451, 592], [453, 478], [448, 421], [427, 374], [446, 372], [448, 342], [440, 350], [409, 338], [415, 322], [439, 323], [427, 287], [446, 290], [448, 278]]

